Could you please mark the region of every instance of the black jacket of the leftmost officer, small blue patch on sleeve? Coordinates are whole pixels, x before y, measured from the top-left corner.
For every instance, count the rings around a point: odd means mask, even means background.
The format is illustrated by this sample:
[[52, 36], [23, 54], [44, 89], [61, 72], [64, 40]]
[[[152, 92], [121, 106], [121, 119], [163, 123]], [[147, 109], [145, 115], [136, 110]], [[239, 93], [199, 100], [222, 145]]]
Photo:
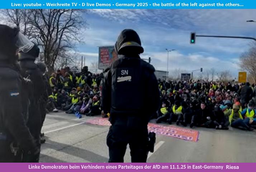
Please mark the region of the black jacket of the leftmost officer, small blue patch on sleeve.
[[[12, 66], [0, 64], [0, 130], [8, 142], [17, 142], [22, 149], [35, 148], [35, 142], [23, 115], [23, 78]], [[4, 149], [4, 148], [1, 148]], [[5, 148], [6, 149], [6, 148]]]

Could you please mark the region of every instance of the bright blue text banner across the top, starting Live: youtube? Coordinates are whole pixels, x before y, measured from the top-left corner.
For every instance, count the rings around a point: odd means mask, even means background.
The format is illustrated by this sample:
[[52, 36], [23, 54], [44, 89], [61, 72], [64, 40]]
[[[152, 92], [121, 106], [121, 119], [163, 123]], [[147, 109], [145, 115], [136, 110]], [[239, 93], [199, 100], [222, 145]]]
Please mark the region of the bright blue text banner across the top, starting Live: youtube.
[[7, 0], [1, 9], [256, 9], [255, 0]]

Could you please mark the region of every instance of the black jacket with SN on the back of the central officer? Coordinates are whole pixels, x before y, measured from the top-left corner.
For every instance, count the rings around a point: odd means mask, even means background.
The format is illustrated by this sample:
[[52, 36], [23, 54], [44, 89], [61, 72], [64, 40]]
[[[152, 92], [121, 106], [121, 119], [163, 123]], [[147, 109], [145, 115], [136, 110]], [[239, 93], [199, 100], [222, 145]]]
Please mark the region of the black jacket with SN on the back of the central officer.
[[[160, 104], [160, 92], [155, 68], [138, 55], [122, 56], [113, 62], [105, 73], [102, 90], [104, 111], [110, 115], [141, 115], [155, 113]], [[131, 76], [130, 80], [119, 82], [120, 77]]]

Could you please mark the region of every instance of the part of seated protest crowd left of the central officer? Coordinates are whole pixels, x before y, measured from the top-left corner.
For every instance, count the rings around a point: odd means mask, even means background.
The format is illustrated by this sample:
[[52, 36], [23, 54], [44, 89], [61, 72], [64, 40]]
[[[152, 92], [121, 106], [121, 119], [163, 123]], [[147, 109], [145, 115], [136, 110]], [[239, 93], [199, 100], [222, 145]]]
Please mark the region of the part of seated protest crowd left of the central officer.
[[71, 71], [61, 73], [60, 70], [49, 77], [52, 94], [49, 95], [47, 110], [65, 111], [68, 114], [84, 114], [94, 116], [101, 114], [100, 82], [103, 73]]

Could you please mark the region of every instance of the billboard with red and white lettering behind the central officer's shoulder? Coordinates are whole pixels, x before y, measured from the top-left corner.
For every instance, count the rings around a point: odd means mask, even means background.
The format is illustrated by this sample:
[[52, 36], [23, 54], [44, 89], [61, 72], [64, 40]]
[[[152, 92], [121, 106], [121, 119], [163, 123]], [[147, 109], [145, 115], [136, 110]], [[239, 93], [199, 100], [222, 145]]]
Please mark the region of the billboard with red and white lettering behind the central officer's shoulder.
[[99, 69], [107, 68], [113, 61], [118, 59], [114, 46], [99, 47]]

